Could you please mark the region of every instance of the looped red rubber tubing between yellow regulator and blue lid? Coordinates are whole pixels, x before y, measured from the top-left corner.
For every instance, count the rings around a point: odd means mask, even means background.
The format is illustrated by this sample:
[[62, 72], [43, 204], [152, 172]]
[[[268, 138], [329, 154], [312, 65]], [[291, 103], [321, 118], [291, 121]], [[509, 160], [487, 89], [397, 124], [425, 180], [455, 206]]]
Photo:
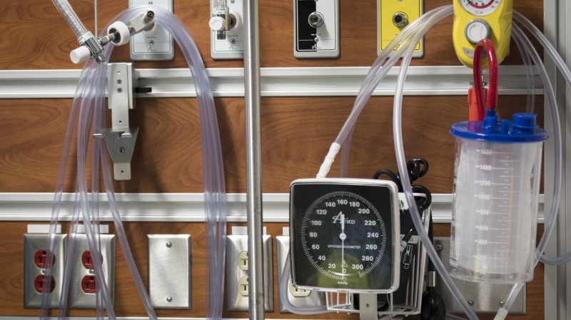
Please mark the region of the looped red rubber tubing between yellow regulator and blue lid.
[[487, 92], [486, 107], [488, 109], [495, 109], [497, 105], [497, 56], [495, 49], [490, 39], [482, 39], [477, 43], [474, 50], [474, 88], [476, 93], [477, 114], [480, 120], [484, 120], [484, 88], [482, 86], [482, 50], [487, 53], [487, 63], [490, 69], [490, 88]]

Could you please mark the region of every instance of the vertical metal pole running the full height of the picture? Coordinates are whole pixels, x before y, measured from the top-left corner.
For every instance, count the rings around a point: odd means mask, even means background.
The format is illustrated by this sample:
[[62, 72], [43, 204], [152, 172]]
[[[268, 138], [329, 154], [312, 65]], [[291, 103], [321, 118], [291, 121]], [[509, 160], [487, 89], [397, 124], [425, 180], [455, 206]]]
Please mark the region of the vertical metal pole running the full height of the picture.
[[246, 96], [246, 194], [248, 210], [248, 301], [250, 319], [263, 320], [262, 165], [258, 0], [244, 1], [244, 86]]

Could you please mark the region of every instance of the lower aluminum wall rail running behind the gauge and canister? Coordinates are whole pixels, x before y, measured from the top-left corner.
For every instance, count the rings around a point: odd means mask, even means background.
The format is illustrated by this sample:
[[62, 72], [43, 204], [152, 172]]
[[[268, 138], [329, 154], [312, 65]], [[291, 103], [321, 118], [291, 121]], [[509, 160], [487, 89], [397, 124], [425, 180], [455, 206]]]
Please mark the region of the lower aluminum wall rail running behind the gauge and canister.
[[[128, 222], [204, 222], [202, 193], [117, 193], [123, 221]], [[112, 222], [107, 196], [100, 194], [101, 220]], [[0, 221], [49, 222], [53, 193], [0, 193]], [[228, 194], [228, 222], [246, 222], [246, 194]], [[64, 194], [61, 221], [70, 221], [74, 194]], [[543, 223], [543, 195], [540, 195], [537, 222]], [[433, 194], [433, 216], [437, 223], [450, 223], [452, 195]], [[263, 222], [289, 222], [289, 194], [263, 195]]]

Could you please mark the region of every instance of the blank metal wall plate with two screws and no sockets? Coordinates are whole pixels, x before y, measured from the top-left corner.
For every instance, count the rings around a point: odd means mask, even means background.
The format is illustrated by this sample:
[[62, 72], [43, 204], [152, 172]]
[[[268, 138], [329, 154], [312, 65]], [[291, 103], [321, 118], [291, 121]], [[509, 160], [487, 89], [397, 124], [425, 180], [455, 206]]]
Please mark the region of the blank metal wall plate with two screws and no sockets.
[[192, 309], [191, 235], [147, 237], [151, 304], [156, 309]]

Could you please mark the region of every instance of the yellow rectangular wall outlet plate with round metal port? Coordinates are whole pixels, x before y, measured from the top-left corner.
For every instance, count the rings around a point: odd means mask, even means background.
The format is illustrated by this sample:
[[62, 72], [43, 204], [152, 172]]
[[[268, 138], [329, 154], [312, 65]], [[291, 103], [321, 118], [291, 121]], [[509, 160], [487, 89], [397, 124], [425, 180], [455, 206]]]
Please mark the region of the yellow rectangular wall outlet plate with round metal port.
[[[410, 24], [423, 14], [423, 8], [423, 0], [377, 0], [377, 54], [383, 52], [388, 43], [393, 41], [393, 38], [405, 27], [399, 28], [393, 24], [395, 14], [405, 14]], [[414, 58], [423, 56], [424, 37], [420, 39], [413, 53]]]

